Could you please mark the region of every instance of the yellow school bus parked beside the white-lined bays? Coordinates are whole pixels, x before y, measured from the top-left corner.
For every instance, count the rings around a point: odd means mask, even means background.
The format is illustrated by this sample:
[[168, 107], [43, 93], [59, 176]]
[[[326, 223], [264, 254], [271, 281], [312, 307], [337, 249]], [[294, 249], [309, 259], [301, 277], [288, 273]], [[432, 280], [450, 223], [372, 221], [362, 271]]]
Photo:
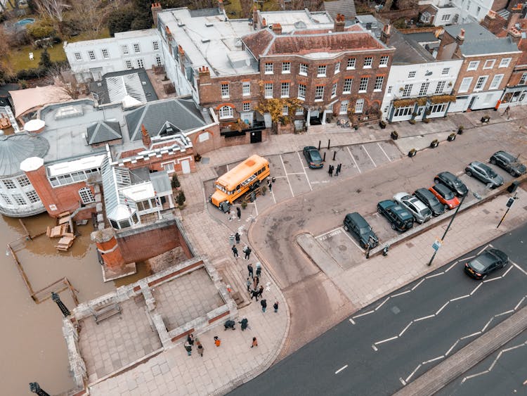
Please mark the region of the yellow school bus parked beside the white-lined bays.
[[226, 212], [228, 206], [247, 191], [251, 191], [269, 176], [269, 162], [259, 155], [251, 155], [216, 180], [216, 191], [210, 201]]

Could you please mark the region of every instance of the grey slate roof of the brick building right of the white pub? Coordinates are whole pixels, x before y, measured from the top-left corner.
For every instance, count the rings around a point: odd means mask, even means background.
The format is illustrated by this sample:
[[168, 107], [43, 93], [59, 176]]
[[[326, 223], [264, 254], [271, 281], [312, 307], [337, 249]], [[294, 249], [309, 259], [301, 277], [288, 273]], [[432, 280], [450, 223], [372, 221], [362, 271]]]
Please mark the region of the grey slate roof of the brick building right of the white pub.
[[518, 52], [518, 46], [509, 37], [497, 38], [479, 23], [445, 26], [445, 32], [457, 37], [464, 29], [464, 41], [460, 45], [463, 55]]

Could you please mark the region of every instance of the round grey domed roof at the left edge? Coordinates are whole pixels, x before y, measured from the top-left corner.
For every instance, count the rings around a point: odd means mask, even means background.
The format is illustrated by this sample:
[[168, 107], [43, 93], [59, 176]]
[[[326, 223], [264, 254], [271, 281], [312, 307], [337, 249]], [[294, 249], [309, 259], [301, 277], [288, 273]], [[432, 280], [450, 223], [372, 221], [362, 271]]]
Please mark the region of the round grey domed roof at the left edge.
[[25, 132], [0, 135], [0, 176], [20, 174], [20, 162], [30, 157], [44, 158], [48, 150], [44, 136]]

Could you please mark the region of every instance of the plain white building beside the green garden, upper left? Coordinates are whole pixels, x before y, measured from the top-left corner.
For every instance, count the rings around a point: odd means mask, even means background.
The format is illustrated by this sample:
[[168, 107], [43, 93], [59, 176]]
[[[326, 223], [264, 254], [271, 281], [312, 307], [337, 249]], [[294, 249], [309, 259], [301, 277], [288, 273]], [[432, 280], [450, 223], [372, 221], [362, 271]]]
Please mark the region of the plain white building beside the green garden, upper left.
[[110, 39], [64, 42], [64, 51], [78, 82], [98, 81], [109, 72], [164, 65], [155, 29], [115, 33]]

